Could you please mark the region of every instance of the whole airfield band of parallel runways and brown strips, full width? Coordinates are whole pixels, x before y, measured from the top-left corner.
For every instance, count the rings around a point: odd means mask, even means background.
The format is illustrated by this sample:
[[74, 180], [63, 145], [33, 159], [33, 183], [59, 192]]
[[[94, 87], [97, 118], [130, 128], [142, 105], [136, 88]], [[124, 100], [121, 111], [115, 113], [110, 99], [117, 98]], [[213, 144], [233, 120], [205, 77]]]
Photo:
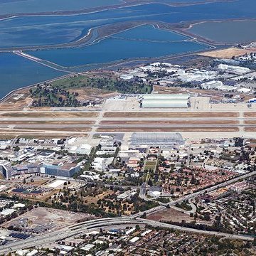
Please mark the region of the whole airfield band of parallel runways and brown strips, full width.
[[75, 135], [114, 132], [237, 132], [256, 131], [256, 112], [156, 110], [0, 112], [0, 135]]

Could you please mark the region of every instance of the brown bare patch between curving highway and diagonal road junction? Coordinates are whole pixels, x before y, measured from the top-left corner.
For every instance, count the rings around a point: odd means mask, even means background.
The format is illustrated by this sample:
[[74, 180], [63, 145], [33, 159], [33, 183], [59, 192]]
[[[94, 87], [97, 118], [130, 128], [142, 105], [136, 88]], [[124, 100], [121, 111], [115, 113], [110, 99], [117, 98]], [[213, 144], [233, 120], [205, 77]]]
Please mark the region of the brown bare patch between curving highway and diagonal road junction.
[[[166, 210], [161, 210], [158, 213], [150, 214], [147, 215], [149, 220], [166, 220], [166, 221], [175, 221], [175, 222], [181, 222], [182, 220], [186, 220], [186, 223], [191, 223], [194, 218], [190, 217], [186, 213], [181, 213], [178, 210], [174, 209], [166, 209]], [[208, 223], [205, 220], [199, 220], [198, 223]]]

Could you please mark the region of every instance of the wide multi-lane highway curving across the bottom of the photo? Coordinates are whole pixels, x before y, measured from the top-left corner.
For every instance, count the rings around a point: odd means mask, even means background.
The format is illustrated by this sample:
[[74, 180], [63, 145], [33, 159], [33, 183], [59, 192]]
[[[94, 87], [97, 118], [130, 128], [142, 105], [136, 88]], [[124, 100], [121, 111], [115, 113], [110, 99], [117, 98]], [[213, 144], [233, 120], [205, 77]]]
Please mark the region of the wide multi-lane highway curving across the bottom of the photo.
[[223, 237], [228, 239], [238, 239], [238, 240], [246, 240], [246, 241], [253, 240], [253, 238], [248, 237], [246, 235], [233, 235], [233, 234], [220, 233], [220, 232], [214, 232], [214, 231], [196, 230], [193, 228], [184, 228], [176, 225], [160, 223], [154, 220], [134, 219], [134, 218], [102, 218], [98, 220], [88, 220], [83, 223], [70, 225], [69, 227], [63, 228], [61, 230], [49, 232], [44, 235], [38, 235], [36, 237], [28, 238], [26, 240], [18, 240], [16, 242], [10, 242], [9, 244], [4, 245], [0, 248], [0, 253], [4, 254], [8, 252], [14, 252], [16, 250], [21, 250], [29, 247], [40, 247], [50, 242], [55, 242], [58, 240], [69, 238], [74, 235], [82, 235], [84, 233], [90, 232], [90, 230], [92, 229], [104, 228], [107, 226], [112, 228], [117, 228], [118, 225], [124, 225], [124, 224], [151, 225], [154, 227], [173, 228], [175, 230], [180, 230], [180, 231], [190, 232], [190, 233], [198, 233], [201, 235], [215, 235], [218, 237]]

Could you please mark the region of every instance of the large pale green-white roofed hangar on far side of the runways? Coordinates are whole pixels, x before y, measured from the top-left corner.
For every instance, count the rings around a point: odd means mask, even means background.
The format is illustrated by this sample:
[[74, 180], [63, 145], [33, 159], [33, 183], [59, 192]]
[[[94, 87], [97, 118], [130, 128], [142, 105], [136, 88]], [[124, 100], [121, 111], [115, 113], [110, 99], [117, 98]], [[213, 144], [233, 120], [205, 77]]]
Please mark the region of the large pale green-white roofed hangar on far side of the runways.
[[190, 96], [187, 94], [150, 94], [144, 95], [143, 108], [187, 108], [190, 107]]

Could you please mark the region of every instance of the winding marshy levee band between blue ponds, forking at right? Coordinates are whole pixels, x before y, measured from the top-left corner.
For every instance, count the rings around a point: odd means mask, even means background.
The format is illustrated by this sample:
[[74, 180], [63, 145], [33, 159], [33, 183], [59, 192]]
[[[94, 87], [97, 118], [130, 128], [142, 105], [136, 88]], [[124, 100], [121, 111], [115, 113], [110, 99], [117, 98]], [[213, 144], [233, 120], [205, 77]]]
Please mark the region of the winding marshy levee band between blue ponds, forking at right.
[[[220, 19], [212, 19], [212, 20], [203, 20], [203, 21], [183, 21], [180, 23], [168, 23], [164, 21], [151, 21], [151, 20], [144, 20], [144, 21], [121, 21], [118, 23], [110, 23], [106, 25], [100, 25], [90, 28], [87, 31], [87, 34], [84, 36], [81, 36], [75, 41], [70, 41], [68, 43], [58, 43], [53, 45], [42, 45], [42, 46], [14, 46], [14, 47], [6, 47], [6, 48], [0, 48], [0, 53], [10, 53], [14, 51], [25, 51], [25, 50], [48, 50], [48, 49], [62, 49], [62, 48], [77, 48], [77, 47], [84, 47], [84, 46], [90, 46], [93, 43], [98, 43], [103, 39], [106, 39], [110, 36], [113, 36], [117, 33], [122, 33], [123, 31], [127, 31], [132, 28], [136, 28], [137, 26], [143, 26], [143, 25], [151, 25], [151, 26], [157, 26], [159, 29], [170, 31], [173, 33], [179, 33], [182, 36], [187, 36], [191, 39], [195, 39], [198, 43], [206, 43], [210, 46], [220, 46], [223, 44], [236, 44], [234, 43], [227, 43], [227, 42], [220, 42], [215, 41], [210, 38], [206, 38], [204, 36], [198, 35], [196, 33], [192, 33], [190, 31], [193, 26], [196, 26], [201, 23], [223, 23], [227, 21], [233, 21], [233, 22], [240, 22], [240, 21], [256, 21], [256, 18], [225, 18], [223, 20]], [[114, 32], [113, 32], [114, 30]], [[108, 31], [112, 31], [112, 33], [108, 33]], [[95, 33], [97, 33], [97, 36], [95, 39], [93, 39], [93, 36], [95, 36]], [[91, 41], [93, 39], [93, 41]]]

